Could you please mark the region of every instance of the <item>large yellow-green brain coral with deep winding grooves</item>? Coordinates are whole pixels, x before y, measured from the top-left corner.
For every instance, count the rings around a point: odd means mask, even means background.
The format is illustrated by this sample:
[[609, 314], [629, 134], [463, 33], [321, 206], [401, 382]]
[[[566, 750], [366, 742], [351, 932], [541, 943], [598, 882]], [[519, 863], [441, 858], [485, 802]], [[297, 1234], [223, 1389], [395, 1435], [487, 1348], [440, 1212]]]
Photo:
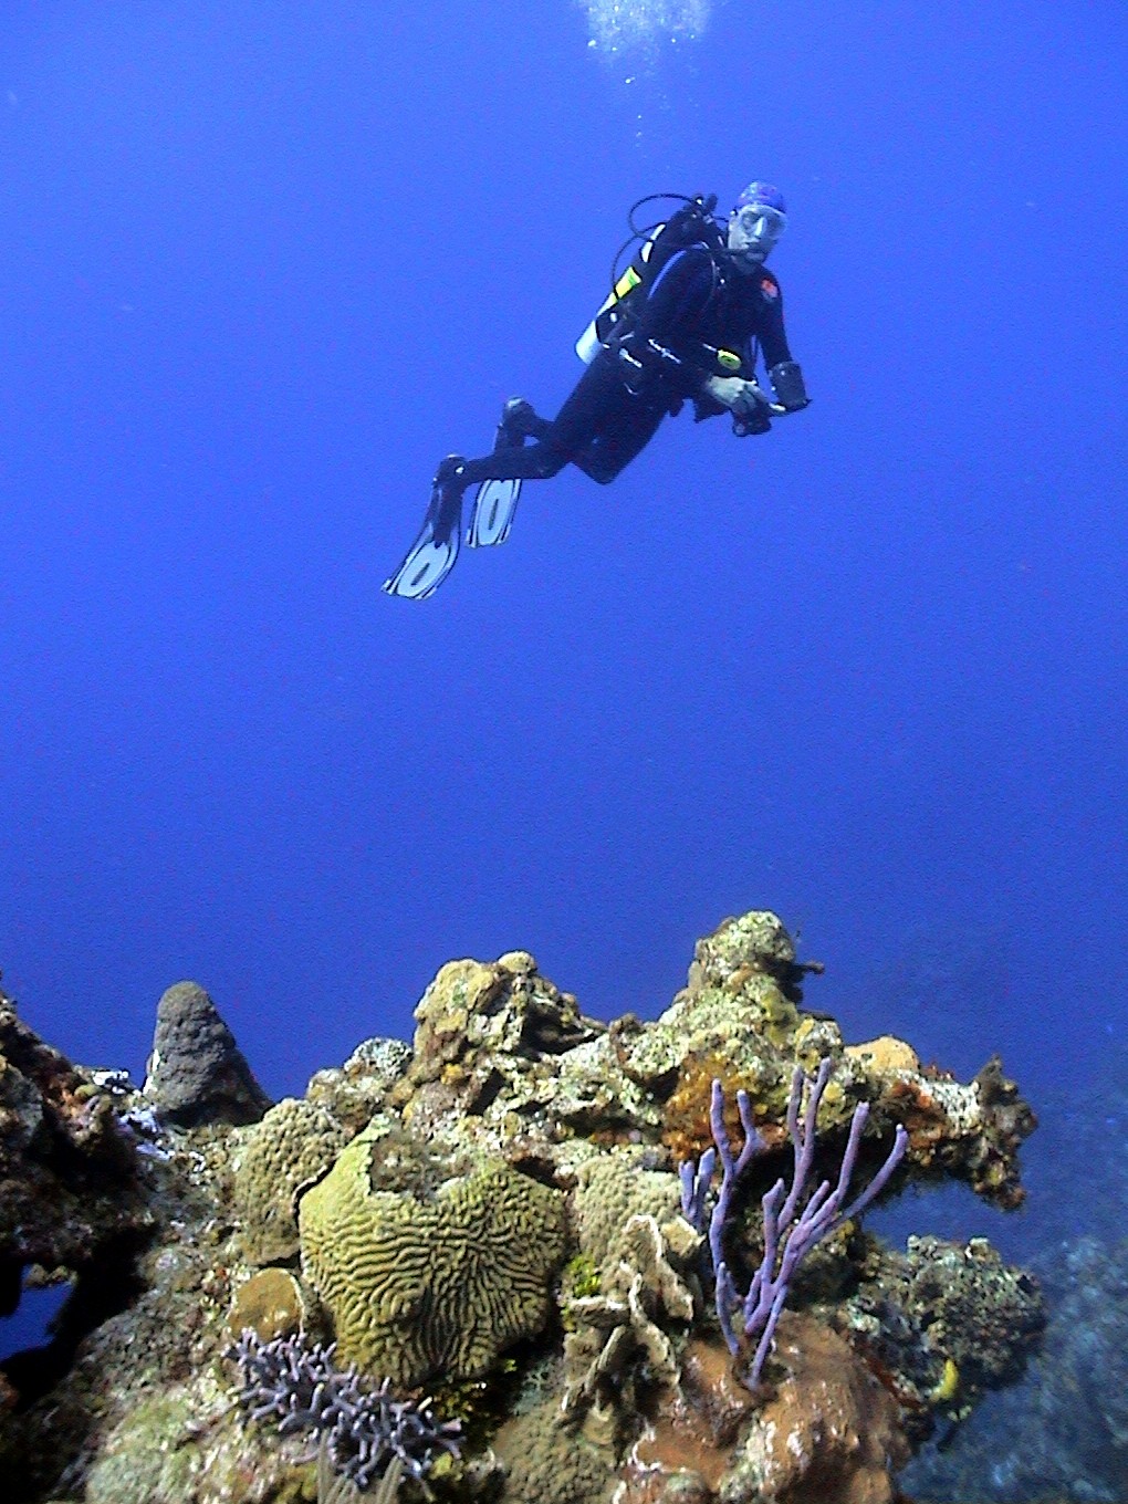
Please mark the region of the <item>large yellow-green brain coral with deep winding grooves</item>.
[[535, 1336], [564, 1259], [564, 1197], [490, 1161], [421, 1200], [373, 1191], [361, 1134], [301, 1200], [305, 1275], [340, 1361], [414, 1387], [480, 1378]]

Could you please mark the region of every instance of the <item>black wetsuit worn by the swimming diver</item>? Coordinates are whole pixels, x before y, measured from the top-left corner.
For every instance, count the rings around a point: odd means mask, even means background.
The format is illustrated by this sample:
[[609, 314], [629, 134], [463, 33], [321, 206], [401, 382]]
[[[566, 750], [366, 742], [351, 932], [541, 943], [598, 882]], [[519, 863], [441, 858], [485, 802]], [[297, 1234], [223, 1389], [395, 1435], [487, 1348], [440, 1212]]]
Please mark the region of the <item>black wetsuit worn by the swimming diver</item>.
[[[648, 340], [680, 356], [681, 364], [656, 355]], [[699, 341], [738, 352], [746, 378], [757, 347], [769, 370], [790, 361], [775, 275], [766, 266], [743, 272], [725, 253], [704, 247], [680, 251], [657, 275], [621, 341], [639, 364], [624, 359], [618, 343], [600, 349], [555, 420], [529, 418], [526, 433], [535, 444], [465, 460], [460, 487], [484, 480], [546, 480], [569, 463], [606, 484], [647, 447], [663, 417], [677, 414], [686, 400], [693, 402], [698, 418], [725, 412], [702, 391], [708, 371], [693, 364]]]

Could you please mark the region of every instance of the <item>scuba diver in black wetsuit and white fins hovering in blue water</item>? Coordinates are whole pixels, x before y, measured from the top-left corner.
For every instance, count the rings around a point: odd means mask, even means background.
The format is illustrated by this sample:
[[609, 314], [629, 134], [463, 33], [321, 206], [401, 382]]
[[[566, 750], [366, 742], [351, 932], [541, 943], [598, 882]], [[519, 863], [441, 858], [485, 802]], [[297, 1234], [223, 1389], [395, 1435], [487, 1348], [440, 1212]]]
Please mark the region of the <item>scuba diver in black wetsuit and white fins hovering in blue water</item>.
[[[725, 226], [713, 217], [716, 196], [683, 199], [666, 221], [635, 226], [644, 203], [677, 197], [653, 194], [632, 208], [633, 235], [620, 256], [635, 241], [641, 248], [621, 277], [615, 257], [612, 292], [576, 341], [587, 370], [556, 417], [541, 418], [513, 397], [490, 454], [450, 454], [439, 465], [423, 529], [384, 582], [388, 594], [426, 600], [450, 575], [471, 486], [478, 490], [466, 543], [504, 543], [522, 481], [547, 480], [572, 463], [606, 486], [686, 402], [696, 421], [729, 412], [741, 438], [766, 433], [773, 417], [808, 406], [784, 332], [779, 281], [764, 265], [787, 224], [782, 194], [770, 183], [749, 183]], [[760, 353], [770, 396], [757, 381]]]

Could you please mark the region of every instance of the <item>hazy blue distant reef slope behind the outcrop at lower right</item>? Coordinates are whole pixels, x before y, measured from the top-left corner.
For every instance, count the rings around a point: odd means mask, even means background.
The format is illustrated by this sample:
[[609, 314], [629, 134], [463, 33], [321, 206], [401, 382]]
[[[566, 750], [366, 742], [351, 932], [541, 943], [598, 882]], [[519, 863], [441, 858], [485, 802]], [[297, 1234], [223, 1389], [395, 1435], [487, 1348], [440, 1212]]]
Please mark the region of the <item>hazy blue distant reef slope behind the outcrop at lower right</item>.
[[1038, 1104], [1023, 1181], [1036, 1217], [1006, 1227], [1045, 1295], [1047, 1327], [1026, 1375], [925, 1444], [904, 1474], [914, 1499], [1123, 1504], [1128, 1498], [1128, 1051], [1117, 1036], [1084, 1081]]

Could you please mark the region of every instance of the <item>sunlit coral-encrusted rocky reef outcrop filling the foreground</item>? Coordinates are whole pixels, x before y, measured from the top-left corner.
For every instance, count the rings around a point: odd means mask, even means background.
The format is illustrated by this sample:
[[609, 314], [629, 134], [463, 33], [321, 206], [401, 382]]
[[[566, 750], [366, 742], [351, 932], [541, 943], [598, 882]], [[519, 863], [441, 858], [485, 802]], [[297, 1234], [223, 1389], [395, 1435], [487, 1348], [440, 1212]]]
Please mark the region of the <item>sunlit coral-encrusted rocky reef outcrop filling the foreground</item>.
[[[896, 1499], [937, 1423], [1021, 1372], [1036, 1281], [982, 1239], [899, 1253], [847, 1220], [782, 1290], [752, 1384], [717, 1256], [741, 1286], [775, 1266], [761, 1202], [797, 1152], [797, 1066], [830, 1062], [814, 1196], [844, 1158], [865, 1185], [902, 1128], [884, 1196], [955, 1178], [1011, 1208], [1033, 1114], [997, 1060], [957, 1081], [904, 1041], [847, 1044], [805, 1008], [817, 970], [755, 911], [698, 943], [657, 1018], [605, 1023], [526, 952], [451, 961], [411, 1045], [368, 1039], [277, 1105], [196, 984], [165, 994], [140, 1090], [3, 1000], [0, 1277], [9, 1308], [21, 1280], [74, 1284], [54, 1343], [0, 1366], [6, 1496]], [[215, 1045], [176, 1084], [171, 1014]], [[740, 1143], [738, 1101], [758, 1152], [710, 1259], [678, 1172]]]

